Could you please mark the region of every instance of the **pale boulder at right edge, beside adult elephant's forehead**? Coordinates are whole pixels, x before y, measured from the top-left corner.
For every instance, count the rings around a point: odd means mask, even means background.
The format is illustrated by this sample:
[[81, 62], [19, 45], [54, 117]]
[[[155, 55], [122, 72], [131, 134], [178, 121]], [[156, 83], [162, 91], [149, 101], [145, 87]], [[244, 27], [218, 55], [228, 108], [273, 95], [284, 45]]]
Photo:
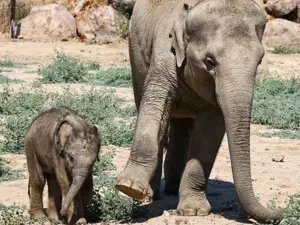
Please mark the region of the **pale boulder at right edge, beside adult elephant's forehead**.
[[300, 24], [284, 19], [270, 20], [264, 32], [268, 47], [300, 47]]

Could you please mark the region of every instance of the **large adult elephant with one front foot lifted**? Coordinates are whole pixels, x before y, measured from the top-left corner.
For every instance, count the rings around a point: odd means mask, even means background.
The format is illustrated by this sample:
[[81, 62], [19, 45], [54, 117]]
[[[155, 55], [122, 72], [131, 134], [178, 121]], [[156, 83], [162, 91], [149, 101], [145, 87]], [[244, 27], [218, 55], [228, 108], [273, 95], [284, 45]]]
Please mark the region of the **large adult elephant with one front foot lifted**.
[[118, 190], [141, 201], [158, 192], [168, 136], [166, 192], [176, 194], [180, 183], [178, 213], [207, 215], [206, 186], [226, 130], [243, 207], [258, 221], [282, 217], [258, 202], [251, 182], [250, 117], [265, 22], [251, 0], [136, 1], [129, 50], [138, 119]]

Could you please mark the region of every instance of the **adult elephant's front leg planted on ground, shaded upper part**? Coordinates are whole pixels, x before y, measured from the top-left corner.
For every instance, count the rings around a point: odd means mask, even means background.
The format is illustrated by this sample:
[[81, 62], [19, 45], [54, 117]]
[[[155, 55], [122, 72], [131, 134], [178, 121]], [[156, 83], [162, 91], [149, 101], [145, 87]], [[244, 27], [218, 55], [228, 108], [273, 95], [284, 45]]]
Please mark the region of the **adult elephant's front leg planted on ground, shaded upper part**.
[[179, 215], [204, 216], [210, 213], [211, 206], [206, 198], [207, 182], [224, 133], [220, 109], [209, 106], [197, 115], [188, 163], [180, 183]]

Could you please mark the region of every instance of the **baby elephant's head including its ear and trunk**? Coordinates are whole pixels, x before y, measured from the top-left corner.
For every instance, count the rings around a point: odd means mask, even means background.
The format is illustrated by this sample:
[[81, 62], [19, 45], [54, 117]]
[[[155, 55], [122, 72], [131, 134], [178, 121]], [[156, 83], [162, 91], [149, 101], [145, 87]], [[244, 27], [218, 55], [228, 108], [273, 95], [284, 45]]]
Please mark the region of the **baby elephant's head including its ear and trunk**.
[[101, 139], [96, 126], [90, 126], [73, 115], [66, 116], [58, 123], [54, 138], [55, 147], [72, 178], [60, 212], [65, 216], [88, 174], [92, 173], [93, 165], [98, 159]]

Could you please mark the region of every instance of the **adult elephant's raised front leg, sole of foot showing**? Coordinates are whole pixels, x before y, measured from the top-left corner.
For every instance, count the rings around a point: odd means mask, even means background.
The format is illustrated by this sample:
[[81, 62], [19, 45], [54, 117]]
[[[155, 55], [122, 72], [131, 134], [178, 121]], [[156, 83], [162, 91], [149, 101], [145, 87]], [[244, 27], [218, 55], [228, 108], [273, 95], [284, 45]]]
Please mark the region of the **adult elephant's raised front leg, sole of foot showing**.
[[149, 182], [159, 167], [159, 152], [165, 145], [172, 104], [168, 83], [162, 79], [146, 83], [130, 156], [115, 185], [116, 189], [139, 201], [153, 197]]

